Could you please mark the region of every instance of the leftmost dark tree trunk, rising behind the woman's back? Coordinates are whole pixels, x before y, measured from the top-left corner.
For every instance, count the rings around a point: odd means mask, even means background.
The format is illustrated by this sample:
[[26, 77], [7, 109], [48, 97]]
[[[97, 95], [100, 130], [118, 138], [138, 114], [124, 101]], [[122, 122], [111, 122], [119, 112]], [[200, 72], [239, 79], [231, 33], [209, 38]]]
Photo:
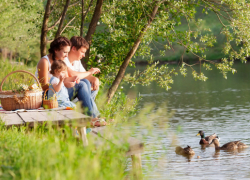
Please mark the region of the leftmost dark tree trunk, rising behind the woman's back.
[[41, 44], [40, 44], [40, 53], [41, 57], [46, 55], [46, 36], [48, 32], [48, 21], [49, 21], [49, 15], [50, 15], [50, 5], [51, 0], [47, 1], [44, 18], [43, 18], [43, 26], [42, 26], [42, 32], [41, 32]]

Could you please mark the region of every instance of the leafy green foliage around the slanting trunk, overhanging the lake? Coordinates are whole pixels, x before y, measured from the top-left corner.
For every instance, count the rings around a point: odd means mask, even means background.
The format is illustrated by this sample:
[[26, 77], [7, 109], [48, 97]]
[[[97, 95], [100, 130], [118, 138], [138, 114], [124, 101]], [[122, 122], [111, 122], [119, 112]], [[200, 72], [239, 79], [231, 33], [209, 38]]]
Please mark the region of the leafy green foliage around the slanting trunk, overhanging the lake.
[[[240, 59], [246, 62], [245, 57], [249, 51], [249, 36], [246, 30], [249, 24], [249, 5], [248, 1], [162, 1], [158, 10], [157, 17], [149, 30], [144, 34], [135, 57], [148, 59], [150, 65], [144, 72], [136, 72], [134, 75], [126, 75], [125, 81], [132, 85], [141, 83], [148, 85], [155, 80], [160, 86], [170, 89], [173, 83], [172, 75], [185, 75], [186, 68], [192, 68], [195, 64], [189, 64], [183, 61], [179, 69], [168, 70], [167, 66], [157, 67], [153, 63], [152, 46], [154, 43], [165, 43], [159, 53], [167, 56], [168, 50], [177, 43], [184, 47], [183, 55], [191, 53], [198, 58], [197, 64], [204, 64], [207, 69], [217, 68], [226, 78], [228, 72], [236, 72], [232, 68], [235, 60]], [[104, 13], [101, 17], [101, 25], [104, 30], [97, 32], [93, 39], [92, 62], [90, 64], [99, 65], [103, 76], [109, 74], [105, 81], [112, 83], [118, 72], [126, 54], [135, 42], [138, 33], [148, 20], [152, 10], [153, 1], [109, 1], [105, 4]], [[213, 34], [210, 28], [204, 26], [201, 18], [196, 17], [197, 11], [201, 10], [204, 16], [213, 15], [220, 23], [220, 34], [225, 36], [224, 57], [217, 63], [206, 59], [208, 50], [216, 43], [217, 34]], [[199, 13], [200, 14], [200, 13]], [[198, 14], [198, 15], [199, 15]], [[183, 31], [182, 22], [185, 31]], [[96, 55], [102, 60], [96, 62]], [[214, 66], [210, 66], [214, 65]], [[130, 62], [134, 66], [134, 61]], [[193, 69], [193, 68], [192, 68]], [[178, 73], [179, 72], [179, 73]], [[203, 72], [196, 72], [193, 69], [193, 77], [197, 80], [206, 81], [207, 77]]]

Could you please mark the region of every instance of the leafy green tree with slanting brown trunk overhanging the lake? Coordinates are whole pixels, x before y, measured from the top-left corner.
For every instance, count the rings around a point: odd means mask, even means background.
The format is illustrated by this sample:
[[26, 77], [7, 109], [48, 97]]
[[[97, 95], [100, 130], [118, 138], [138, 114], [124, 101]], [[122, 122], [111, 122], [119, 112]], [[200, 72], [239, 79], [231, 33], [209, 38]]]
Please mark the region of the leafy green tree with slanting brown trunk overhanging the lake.
[[[52, 19], [65, 16], [64, 21], [61, 19], [65, 28], [59, 28], [62, 29], [59, 34], [84, 36], [86, 33], [91, 48], [85, 62], [89, 66], [99, 66], [102, 71], [100, 78], [111, 85], [108, 102], [122, 80], [132, 85], [148, 85], [156, 81], [168, 90], [173, 83], [172, 76], [179, 73], [185, 76], [187, 67], [192, 69], [197, 80], [206, 81], [207, 77], [202, 69], [196, 72], [192, 68], [195, 64], [207, 70], [215, 67], [226, 78], [228, 72], [236, 72], [232, 68], [234, 61], [240, 59], [245, 62], [248, 56], [250, 14], [247, 0], [82, 0], [71, 2], [77, 4], [74, 9], [70, 9], [68, 2], [64, 1], [64, 4], [69, 8], [62, 11], [61, 6], [60, 11], [54, 11]], [[84, 7], [88, 8], [84, 10]], [[197, 17], [201, 14], [217, 18], [221, 27], [219, 35]], [[59, 21], [55, 22], [51, 27], [58, 27]], [[66, 28], [69, 23], [71, 28]], [[55, 34], [54, 30], [49, 36], [54, 37]], [[221, 62], [214, 62], [206, 55], [221, 36], [225, 38], [224, 58]], [[178, 45], [183, 47], [182, 57], [192, 54], [198, 62], [188, 64], [181, 58], [181, 66], [177, 69], [159, 66], [152, 50], [155, 43], [161, 44], [159, 53], [162, 56], [168, 55]], [[127, 66], [135, 66], [135, 58], [145, 58], [149, 65], [143, 72], [126, 74]]]

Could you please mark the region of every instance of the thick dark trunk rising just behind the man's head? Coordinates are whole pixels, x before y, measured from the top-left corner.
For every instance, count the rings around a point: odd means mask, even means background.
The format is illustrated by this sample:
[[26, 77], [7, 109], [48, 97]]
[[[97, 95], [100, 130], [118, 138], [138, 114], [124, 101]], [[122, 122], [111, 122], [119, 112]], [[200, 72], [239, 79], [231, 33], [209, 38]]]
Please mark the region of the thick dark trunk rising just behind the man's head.
[[[99, 21], [99, 19], [101, 17], [102, 5], [103, 5], [103, 0], [97, 0], [95, 11], [94, 11], [94, 14], [92, 16], [91, 22], [89, 24], [89, 29], [88, 29], [87, 35], [85, 36], [85, 39], [89, 43], [89, 47], [91, 45], [92, 35], [95, 33], [97, 23], [98, 23], [98, 21]], [[83, 66], [85, 67], [85, 69], [87, 68], [87, 62], [89, 60], [89, 51], [90, 51], [90, 48], [87, 50], [85, 58], [83, 58], [81, 60], [81, 62], [83, 64]]]

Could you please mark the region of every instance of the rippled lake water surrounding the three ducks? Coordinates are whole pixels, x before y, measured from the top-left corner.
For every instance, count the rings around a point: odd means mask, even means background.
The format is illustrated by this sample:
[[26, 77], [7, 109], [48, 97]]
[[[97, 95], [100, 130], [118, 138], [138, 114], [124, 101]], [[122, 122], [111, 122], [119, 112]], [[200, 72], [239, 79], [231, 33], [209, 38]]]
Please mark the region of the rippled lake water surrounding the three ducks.
[[[250, 145], [250, 64], [237, 63], [234, 68], [237, 73], [229, 73], [228, 79], [217, 70], [207, 71], [206, 82], [195, 81], [190, 74], [178, 75], [169, 91], [156, 83], [124, 88], [125, 92], [140, 92], [139, 108], [154, 103], [155, 109], [175, 111], [169, 128], [154, 125], [152, 135], [144, 141], [146, 179], [250, 179], [250, 147], [241, 152], [215, 153], [213, 147], [202, 149], [196, 136], [203, 130], [205, 135], [216, 133], [221, 145], [236, 140]], [[195, 156], [187, 159], [176, 155], [176, 145], [191, 146]]]

